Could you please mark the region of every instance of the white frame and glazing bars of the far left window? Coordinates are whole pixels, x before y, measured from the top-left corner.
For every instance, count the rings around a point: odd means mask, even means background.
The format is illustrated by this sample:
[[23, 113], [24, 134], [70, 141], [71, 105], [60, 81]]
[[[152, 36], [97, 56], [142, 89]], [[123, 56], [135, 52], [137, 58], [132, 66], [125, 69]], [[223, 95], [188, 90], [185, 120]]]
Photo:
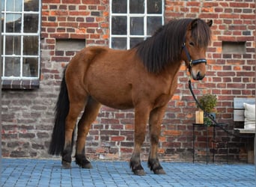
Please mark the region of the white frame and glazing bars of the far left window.
[[[41, 0], [37, 0], [38, 1], [38, 11], [25, 11], [24, 10], [24, 1], [25, 0], [21, 0], [22, 1], [22, 10], [20, 12], [13, 12], [13, 11], [6, 11], [7, 10], [7, 1], [8, 0], [4, 0], [4, 4], [1, 4], [1, 6], [4, 6], [4, 10], [1, 11], [1, 15], [4, 15], [4, 19], [3, 19], [3, 28], [2, 28], [2, 32], [1, 32], [1, 36], [2, 36], [2, 73], [1, 73], [1, 79], [2, 80], [33, 80], [33, 79], [40, 79], [40, 28], [41, 28]], [[6, 14], [7, 13], [19, 13], [22, 15], [22, 22], [21, 22], [21, 31], [17, 32], [17, 33], [6, 33]], [[37, 29], [37, 33], [24, 33], [23, 32], [23, 26], [24, 26], [24, 14], [25, 13], [29, 13], [29, 14], [37, 14], [38, 15], [38, 29]], [[5, 45], [6, 45], [6, 36], [20, 36], [21, 37], [21, 43], [20, 43], [20, 55], [5, 55]], [[23, 55], [23, 37], [25, 36], [37, 36], [38, 37], [38, 52], [37, 55]], [[20, 71], [19, 71], [19, 76], [5, 76], [5, 58], [6, 57], [13, 57], [13, 58], [19, 58], [19, 66], [20, 66]], [[22, 64], [23, 64], [23, 58], [37, 58], [37, 76], [22, 76]]]

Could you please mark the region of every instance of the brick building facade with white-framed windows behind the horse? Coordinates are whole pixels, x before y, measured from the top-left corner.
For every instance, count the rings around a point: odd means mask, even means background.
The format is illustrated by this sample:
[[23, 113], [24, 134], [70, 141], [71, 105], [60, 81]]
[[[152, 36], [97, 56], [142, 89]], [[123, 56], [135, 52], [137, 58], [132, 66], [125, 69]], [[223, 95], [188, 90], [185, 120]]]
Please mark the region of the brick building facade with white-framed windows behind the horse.
[[[192, 84], [197, 96], [204, 93], [217, 96], [216, 118], [229, 124], [229, 132], [234, 133], [234, 127], [241, 125], [233, 121], [234, 97], [255, 97], [254, 0], [23, 0], [21, 10], [16, 9], [14, 1], [4, 3], [1, 9], [4, 15], [1, 91], [4, 157], [52, 157], [47, 150], [55, 102], [64, 67], [76, 52], [90, 45], [129, 49], [171, 19], [213, 19], [207, 76]], [[10, 43], [13, 43], [11, 47]], [[192, 161], [192, 123], [197, 107], [188, 80], [186, 67], [182, 65], [177, 91], [162, 121], [158, 150], [162, 160]], [[85, 149], [88, 158], [129, 159], [133, 117], [132, 110], [103, 106], [88, 135]], [[203, 129], [197, 133], [201, 138], [197, 138], [196, 145], [201, 149], [195, 153], [198, 159], [204, 160], [206, 134]], [[217, 142], [213, 143], [212, 129], [209, 135], [210, 159], [213, 159], [213, 147], [217, 147], [216, 161], [228, 156], [233, 162], [247, 162], [253, 138], [233, 137], [218, 129]], [[228, 141], [228, 147], [223, 141]], [[143, 159], [147, 159], [149, 146], [147, 136]]]

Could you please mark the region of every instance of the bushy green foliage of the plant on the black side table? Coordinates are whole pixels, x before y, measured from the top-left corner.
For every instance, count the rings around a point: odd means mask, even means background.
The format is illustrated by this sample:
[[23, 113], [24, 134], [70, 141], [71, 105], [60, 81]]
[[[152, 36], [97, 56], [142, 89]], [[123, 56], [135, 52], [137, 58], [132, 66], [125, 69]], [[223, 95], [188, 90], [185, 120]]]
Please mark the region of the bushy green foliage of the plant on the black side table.
[[203, 110], [210, 113], [217, 105], [217, 96], [207, 93], [201, 96], [198, 101], [200, 102]]

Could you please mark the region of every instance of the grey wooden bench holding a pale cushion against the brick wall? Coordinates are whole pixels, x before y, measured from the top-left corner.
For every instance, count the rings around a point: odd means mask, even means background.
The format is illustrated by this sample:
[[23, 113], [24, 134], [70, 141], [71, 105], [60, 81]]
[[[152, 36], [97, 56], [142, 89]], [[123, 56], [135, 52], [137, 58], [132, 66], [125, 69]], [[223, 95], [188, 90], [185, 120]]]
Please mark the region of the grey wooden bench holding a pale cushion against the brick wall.
[[[255, 104], [255, 98], [234, 98], [234, 122], [245, 122], [244, 102], [253, 105]], [[245, 129], [244, 126], [243, 129], [234, 128], [234, 130], [239, 131], [242, 135], [255, 134], [255, 129]], [[255, 150], [248, 150], [248, 162], [251, 164], [255, 163]]]

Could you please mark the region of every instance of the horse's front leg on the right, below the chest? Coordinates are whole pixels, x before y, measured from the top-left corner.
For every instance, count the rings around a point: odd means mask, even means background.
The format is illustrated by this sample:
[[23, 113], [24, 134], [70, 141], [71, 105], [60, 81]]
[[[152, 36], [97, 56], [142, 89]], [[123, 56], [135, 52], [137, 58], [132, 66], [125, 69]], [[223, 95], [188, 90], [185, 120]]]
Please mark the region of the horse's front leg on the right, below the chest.
[[165, 114], [166, 105], [160, 108], [155, 108], [150, 112], [150, 155], [148, 158], [148, 167], [154, 174], [165, 174], [162, 166], [159, 163], [157, 156], [159, 136], [161, 133], [162, 117]]

